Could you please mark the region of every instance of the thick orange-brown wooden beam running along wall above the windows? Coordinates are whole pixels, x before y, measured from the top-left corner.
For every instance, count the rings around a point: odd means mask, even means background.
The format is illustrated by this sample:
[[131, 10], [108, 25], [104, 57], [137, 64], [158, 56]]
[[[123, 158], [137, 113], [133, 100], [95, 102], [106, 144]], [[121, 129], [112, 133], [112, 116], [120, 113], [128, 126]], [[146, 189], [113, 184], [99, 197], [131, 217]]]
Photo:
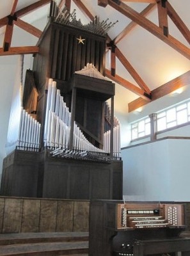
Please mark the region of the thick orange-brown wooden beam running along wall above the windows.
[[[183, 86], [186, 86], [188, 84], [190, 84], [190, 70], [182, 74], [182, 76], [176, 77], [170, 82], [163, 84], [162, 86], [159, 86], [158, 88], [152, 90], [151, 99], [157, 100], [165, 95], [168, 95], [168, 93], [174, 92], [175, 90], [182, 88]], [[148, 102], [142, 99], [141, 97], [136, 100], [133, 100], [128, 104], [129, 112], [134, 111], [135, 109], [138, 109], [147, 103]]]

